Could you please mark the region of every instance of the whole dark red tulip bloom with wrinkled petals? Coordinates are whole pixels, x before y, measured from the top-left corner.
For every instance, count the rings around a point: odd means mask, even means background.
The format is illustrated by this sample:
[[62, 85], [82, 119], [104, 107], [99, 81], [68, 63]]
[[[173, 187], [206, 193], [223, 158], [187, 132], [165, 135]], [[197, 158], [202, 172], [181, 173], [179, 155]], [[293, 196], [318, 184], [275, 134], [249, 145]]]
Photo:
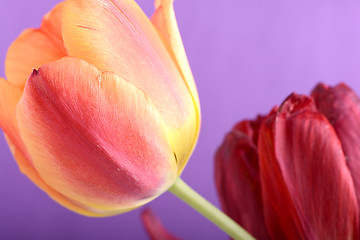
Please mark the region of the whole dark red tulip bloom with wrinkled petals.
[[239, 123], [215, 160], [224, 211], [258, 239], [358, 239], [359, 103], [320, 84]]

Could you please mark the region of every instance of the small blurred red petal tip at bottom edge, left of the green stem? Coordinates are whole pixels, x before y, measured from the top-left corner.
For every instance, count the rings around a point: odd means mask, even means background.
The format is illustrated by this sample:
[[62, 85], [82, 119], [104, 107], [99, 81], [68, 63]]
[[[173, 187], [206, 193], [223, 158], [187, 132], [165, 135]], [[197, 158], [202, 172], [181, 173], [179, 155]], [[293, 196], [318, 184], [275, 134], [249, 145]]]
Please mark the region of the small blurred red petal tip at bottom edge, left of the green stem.
[[141, 220], [151, 240], [178, 240], [164, 228], [160, 219], [149, 208], [141, 212]]

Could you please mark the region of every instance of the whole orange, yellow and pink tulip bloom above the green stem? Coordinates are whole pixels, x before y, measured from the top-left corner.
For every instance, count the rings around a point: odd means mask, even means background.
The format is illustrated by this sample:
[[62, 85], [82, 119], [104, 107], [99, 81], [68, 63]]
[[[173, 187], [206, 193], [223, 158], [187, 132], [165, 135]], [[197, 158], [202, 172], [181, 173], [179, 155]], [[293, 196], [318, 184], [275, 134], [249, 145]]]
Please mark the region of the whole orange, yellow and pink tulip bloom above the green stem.
[[20, 170], [77, 213], [149, 202], [196, 144], [199, 99], [172, 1], [155, 6], [148, 19], [132, 0], [67, 0], [8, 50], [0, 126]]

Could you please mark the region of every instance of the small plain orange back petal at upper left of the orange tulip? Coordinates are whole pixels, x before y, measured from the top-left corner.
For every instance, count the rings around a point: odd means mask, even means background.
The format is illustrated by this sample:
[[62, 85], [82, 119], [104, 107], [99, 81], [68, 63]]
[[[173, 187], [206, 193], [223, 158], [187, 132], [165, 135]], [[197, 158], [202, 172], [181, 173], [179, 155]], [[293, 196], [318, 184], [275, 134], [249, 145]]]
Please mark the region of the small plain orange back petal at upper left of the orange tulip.
[[63, 3], [45, 15], [39, 29], [27, 29], [11, 44], [5, 61], [7, 79], [23, 88], [33, 68], [66, 56], [61, 36]]

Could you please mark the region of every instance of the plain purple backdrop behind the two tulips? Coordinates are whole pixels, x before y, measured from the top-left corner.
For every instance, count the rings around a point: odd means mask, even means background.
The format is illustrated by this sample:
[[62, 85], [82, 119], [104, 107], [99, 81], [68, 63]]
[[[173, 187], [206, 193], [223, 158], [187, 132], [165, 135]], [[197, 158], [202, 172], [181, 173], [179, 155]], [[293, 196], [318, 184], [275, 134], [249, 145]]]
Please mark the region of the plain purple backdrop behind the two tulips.
[[[57, 0], [1, 0], [0, 59]], [[152, 1], [140, 6], [149, 15]], [[202, 129], [183, 179], [218, 205], [213, 155], [239, 120], [266, 113], [291, 92], [319, 82], [360, 93], [360, 2], [177, 0], [175, 10], [202, 106]], [[0, 76], [4, 76], [3, 64]], [[110, 218], [76, 215], [23, 176], [0, 139], [0, 239], [146, 239], [140, 210]], [[227, 239], [165, 193], [148, 204], [183, 239]]]

